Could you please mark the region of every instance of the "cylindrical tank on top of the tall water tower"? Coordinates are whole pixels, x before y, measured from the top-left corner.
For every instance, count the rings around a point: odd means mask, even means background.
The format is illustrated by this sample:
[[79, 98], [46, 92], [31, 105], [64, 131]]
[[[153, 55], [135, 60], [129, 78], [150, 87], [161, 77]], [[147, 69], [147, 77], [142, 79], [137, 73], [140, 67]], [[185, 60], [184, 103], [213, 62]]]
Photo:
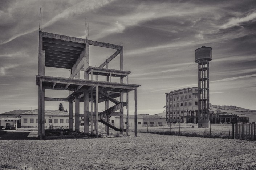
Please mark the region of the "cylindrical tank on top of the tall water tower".
[[212, 48], [211, 47], [206, 47], [202, 46], [201, 48], [198, 48], [195, 50], [196, 53], [196, 63], [199, 63], [200, 60], [207, 60], [211, 61], [212, 60]]

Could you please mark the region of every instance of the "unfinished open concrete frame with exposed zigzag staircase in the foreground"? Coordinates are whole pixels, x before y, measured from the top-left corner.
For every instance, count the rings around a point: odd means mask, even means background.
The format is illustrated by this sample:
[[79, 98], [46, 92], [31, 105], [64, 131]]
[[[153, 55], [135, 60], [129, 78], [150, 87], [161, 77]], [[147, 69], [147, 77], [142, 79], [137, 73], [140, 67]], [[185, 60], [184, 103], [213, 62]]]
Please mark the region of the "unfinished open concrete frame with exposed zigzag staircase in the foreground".
[[[89, 66], [89, 46], [105, 47], [117, 50], [106, 59], [99, 67]], [[108, 68], [108, 63], [120, 54], [120, 70]], [[105, 68], [103, 68], [105, 66]], [[69, 78], [45, 76], [45, 67], [55, 67], [70, 69]], [[84, 72], [84, 78], [80, 79], [79, 72]], [[40, 139], [44, 136], [44, 107], [45, 101], [66, 101], [69, 102], [70, 120], [73, 116], [73, 102], [75, 102], [75, 129], [79, 131], [79, 117], [84, 117], [84, 134], [89, 135], [89, 118], [95, 121], [95, 130], [98, 137], [98, 122], [113, 128], [108, 122], [107, 116], [120, 110], [120, 129], [123, 132], [123, 107], [127, 109], [128, 120], [128, 93], [134, 90], [135, 119], [137, 124], [137, 88], [141, 85], [129, 84], [129, 71], [123, 71], [123, 46], [92, 41], [65, 35], [46, 33], [39, 31], [39, 53], [38, 53], [38, 75], [36, 75], [36, 85], [38, 85], [38, 135]], [[95, 80], [93, 80], [95, 75]], [[98, 75], [106, 76], [106, 82], [98, 81]], [[120, 82], [112, 82], [111, 77], [119, 77]], [[126, 83], [123, 79], [127, 78]], [[89, 80], [90, 79], [90, 80]], [[67, 98], [45, 97], [45, 89], [49, 90], [69, 90]], [[126, 102], [123, 95], [126, 93]], [[120, 101], [115, 98], [119, 97]], [[109, 101], [115, 105], [109, 108]], [[84, 113], [79, 112], [79, 103], [83, 102]], [[89, 103], [91, 102], [91, 110]], [[98, 111], [99, 102], [105, 102], [106, 110]], [[94, 103], [94, 112], [93, 112]], [[104, 119], [104, 120], [103, 120]], [[105, 121], [106, 120], [106, 121]], [[69, 127], [72, 128], [72, 121]], [[91, 123], [92, 134], [92, 123]], [[129, 126], [126, 127], [129, 129]], [[128, 134], [128, 130], [126, 131]], [[137, 127], [135, 127], [135, 137], [137, 137]]]

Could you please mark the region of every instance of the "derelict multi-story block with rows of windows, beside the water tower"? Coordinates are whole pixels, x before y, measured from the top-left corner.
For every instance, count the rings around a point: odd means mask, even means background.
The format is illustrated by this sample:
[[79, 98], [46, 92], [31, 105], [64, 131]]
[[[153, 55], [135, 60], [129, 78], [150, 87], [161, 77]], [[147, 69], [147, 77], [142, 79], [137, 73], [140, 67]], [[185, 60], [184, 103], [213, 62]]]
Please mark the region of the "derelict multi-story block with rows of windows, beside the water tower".
[[166, 122], [197, 123], [198, 88], [184, 88], [166, 93]]

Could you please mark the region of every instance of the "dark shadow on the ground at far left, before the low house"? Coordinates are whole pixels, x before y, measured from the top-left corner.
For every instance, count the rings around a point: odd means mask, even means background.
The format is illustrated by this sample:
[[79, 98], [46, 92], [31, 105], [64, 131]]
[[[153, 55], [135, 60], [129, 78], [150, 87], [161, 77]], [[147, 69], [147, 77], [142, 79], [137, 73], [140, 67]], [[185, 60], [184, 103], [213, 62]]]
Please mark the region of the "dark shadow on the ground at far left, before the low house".
[[0, 140], [36, 140], [37, 132], [7, 132], [1, 134]]

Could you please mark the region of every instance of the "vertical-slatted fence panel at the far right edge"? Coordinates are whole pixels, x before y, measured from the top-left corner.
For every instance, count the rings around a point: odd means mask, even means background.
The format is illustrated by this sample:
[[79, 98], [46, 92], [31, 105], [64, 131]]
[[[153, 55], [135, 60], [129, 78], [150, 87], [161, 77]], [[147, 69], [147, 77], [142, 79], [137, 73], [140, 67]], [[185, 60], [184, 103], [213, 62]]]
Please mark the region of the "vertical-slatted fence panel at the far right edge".
[[233, 139], [256, 140], [256, 124], [233, 124]]

